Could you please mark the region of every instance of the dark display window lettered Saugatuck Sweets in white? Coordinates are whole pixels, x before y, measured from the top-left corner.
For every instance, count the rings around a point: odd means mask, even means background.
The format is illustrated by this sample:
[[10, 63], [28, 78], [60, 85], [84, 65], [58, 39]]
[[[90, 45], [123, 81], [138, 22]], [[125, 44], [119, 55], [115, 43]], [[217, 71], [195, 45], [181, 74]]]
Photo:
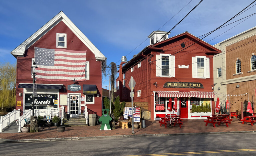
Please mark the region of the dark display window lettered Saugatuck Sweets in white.
[[[25, 94], [25, 109], [30, 109], [29, 106], [32, 106], [32, 94]], [[37, 94], [34, 98], [36, 106], [56, 106], [58, 103], [58, 94]], [[39, 109], [44, 109], [39, 107]]]

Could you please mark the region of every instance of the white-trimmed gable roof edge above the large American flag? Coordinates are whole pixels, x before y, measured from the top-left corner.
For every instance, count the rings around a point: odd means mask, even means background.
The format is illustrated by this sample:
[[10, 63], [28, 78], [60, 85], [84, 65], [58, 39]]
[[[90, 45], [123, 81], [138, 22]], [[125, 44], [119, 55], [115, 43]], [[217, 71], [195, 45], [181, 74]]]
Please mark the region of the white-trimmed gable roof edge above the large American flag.
[[56, 26], [60, 21], [63, 21], [68, 28], [92, 51], [95, 58], [98, 60], [105, 60], [106, 57], [92, 44], [92, 42], [74, 25], [74, 23], [60, 11], [54, 18], [37, 30], [33, 35], [26, 39], [22, 44], [17, 46], [11, 54], [17, 58], [17, 56], [24, 56], [25, 51], [46, 34], [51, 28]]

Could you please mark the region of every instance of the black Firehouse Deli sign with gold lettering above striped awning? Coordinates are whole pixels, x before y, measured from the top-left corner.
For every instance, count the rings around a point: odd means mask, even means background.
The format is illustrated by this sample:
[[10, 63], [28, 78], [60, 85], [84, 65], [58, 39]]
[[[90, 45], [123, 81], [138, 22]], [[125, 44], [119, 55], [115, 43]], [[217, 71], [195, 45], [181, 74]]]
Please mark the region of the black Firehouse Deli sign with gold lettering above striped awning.
[[204, 88], [198, 82], [165, 82], [164, 88]]

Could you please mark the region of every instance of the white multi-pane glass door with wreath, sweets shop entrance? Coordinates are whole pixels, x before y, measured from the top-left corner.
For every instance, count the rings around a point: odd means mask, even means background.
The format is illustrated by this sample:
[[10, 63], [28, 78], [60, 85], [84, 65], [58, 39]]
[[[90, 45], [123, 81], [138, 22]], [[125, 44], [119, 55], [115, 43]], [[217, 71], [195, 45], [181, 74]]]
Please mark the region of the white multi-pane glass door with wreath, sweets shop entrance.
[[80, 109], [81, 109], [81, 95], [80, 94], [69, 94], [69, 110], [70, 117], [77, 117], [79, 116]]

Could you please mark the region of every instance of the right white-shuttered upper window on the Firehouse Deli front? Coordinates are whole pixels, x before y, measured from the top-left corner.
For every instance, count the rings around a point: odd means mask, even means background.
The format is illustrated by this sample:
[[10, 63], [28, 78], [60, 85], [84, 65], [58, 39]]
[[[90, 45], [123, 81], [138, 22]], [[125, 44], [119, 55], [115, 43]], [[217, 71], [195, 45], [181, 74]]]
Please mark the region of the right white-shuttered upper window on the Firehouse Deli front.
[[192, 77], [210, 78], [210, 60], [205, 56], [192, 57]]

